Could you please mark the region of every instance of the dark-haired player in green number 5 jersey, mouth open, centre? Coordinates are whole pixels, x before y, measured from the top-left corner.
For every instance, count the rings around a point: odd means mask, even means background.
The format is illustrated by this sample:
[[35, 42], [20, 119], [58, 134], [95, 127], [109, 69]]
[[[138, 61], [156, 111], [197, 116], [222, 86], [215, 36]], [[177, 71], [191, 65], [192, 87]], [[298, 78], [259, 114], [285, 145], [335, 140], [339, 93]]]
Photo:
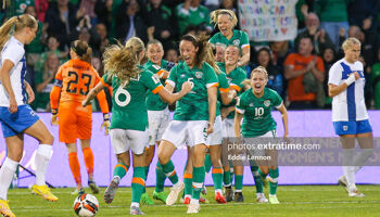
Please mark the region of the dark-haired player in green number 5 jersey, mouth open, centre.
[[166, 88], [173, 91], [181, 89], [185, 81], [193, 82], [192, 91], [177, 102], [174, 120], [165, 130], [159, 148], [159, 161], [165, 175], [170, 179], [173, 188], [167, 196], [166, 205], [173, 205], [183, 189], [178, 179], [170, 157], [177, 148], [185, 142], [190, 146], [192, 159], [192, 197], [188, 214], [199, 213], [199, 199], [202, 191], [205, 168], [207, 136], [213, 132], [216, 112], [217, 77], [213, 67], [205, 63], [204, 55], [207, 41], [192, 35], [185, 35], [179, 43], [183, 62], [170, 71]]

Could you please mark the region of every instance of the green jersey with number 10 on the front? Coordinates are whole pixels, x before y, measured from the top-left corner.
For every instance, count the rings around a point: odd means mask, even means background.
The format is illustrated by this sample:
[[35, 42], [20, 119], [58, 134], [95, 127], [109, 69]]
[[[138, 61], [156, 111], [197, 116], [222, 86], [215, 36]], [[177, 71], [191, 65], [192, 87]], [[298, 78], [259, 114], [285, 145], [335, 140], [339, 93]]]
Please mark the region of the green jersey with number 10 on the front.
[[269, 88], [264, 89], [262, 98], [256, 98], [252, 88], [243, 92], [236, 106], [237, 112], [244, 114], [241, 127], [243, 137], [258, 137], [276, 130], [276, 122], [270, 111], [273, 107], [279, 108], [281, 104], [281, 97]]

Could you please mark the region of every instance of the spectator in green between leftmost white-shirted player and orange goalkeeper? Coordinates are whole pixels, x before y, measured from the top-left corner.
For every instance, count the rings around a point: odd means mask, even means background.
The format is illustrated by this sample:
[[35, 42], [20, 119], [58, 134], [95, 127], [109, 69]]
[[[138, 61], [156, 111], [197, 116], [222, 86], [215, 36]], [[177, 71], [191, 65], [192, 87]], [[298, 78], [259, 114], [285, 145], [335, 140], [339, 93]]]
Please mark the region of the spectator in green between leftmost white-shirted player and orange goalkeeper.
[[54, 52], [49, 52], [43, 69], [36, 72], [36, 112], [50, 112], [50, 92], [53, 89], [54, 77], [59, 67], [59, 56]]

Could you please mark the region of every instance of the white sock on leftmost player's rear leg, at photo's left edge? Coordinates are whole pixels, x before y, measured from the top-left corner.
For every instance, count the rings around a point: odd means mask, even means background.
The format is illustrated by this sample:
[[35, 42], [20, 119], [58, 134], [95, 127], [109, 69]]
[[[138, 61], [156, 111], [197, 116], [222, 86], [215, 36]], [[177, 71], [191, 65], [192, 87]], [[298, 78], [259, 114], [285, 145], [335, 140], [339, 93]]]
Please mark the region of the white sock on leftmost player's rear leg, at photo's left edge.
[[12, 182], [14, 173], [16, 171], [18, 162], [14, 162], [10, 158], [5, 158], [0, 168], [0, 199], [7, 201], [8, 188]]

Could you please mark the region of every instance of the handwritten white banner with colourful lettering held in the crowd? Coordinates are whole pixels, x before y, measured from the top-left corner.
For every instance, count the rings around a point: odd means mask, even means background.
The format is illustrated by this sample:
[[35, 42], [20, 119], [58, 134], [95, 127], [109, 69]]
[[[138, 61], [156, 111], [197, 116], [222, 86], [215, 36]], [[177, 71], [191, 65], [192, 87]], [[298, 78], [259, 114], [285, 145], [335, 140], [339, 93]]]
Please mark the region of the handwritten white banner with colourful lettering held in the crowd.
[[296, 37], [297, 0], [239, 0], [240, 28], [251, 41], [282, 41]]

